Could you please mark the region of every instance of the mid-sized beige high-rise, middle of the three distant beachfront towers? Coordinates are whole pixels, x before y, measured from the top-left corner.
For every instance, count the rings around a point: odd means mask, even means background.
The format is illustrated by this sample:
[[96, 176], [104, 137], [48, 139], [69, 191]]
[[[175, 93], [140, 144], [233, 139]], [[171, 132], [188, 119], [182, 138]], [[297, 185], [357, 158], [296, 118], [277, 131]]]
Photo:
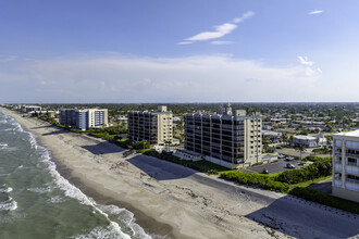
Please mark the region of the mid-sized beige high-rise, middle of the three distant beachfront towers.
[[128, 138], [135, 141], [148, 140], [151, 144], [172, 142], [173, 114], [166, 106], [159, 106], [157, 112], [128, 112]]

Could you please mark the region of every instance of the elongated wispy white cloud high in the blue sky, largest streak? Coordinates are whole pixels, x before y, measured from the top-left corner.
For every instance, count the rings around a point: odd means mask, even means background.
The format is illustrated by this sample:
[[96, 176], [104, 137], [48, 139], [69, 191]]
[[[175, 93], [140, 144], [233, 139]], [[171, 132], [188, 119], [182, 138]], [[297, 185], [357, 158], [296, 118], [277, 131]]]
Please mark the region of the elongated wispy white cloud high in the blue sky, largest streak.
[[232, 23], [224, 23], [219, 26], [213, 26], [214, 30], [196, 34], [193, 37], [188, 37], [184, 39], [185, 41], [178, 42], [178, 45], [193, 43], [195, 41], [213, 40], [224, 37], [225, 35], [231, 34], [233, 30], [235, 30], [238, 27], [237, 23], [240, 23], [251, 17], [252, 15], [255, 15], [253, 12], [246, 12], [240, 17], [234, 18]]

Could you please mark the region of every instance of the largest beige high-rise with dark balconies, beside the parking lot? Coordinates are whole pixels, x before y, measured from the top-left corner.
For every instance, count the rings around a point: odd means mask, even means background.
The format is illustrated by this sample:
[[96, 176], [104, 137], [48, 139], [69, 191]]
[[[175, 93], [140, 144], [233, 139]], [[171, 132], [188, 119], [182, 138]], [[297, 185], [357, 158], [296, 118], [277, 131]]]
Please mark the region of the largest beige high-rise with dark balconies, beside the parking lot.
[[232, 113], [230, 104], [221, 108], [220, 114], [186, 114], [185, 149], [230, 168], [258, 163], [262, 161], [261, 127], [259, 113]]

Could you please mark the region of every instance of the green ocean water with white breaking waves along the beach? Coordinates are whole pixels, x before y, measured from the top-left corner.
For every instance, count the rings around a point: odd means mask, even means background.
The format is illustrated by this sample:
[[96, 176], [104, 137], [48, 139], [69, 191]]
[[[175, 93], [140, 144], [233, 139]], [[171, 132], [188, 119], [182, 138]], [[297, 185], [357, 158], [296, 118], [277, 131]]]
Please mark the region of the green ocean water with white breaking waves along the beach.
[[157, 238], [134, 214], [100, 205], [57, 171], [36, 136], [0, 112], [0, 238]]

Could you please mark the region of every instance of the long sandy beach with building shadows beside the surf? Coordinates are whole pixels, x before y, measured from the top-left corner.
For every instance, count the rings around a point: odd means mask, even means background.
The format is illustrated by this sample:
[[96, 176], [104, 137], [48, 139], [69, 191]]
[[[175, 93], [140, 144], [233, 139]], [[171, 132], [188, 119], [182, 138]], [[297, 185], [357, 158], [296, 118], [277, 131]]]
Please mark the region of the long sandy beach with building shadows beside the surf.
[[59, 172], [102, 204], [168, 238], [359, 238], [359, 216], [208, 176], [0, 108], [51, 151]]

